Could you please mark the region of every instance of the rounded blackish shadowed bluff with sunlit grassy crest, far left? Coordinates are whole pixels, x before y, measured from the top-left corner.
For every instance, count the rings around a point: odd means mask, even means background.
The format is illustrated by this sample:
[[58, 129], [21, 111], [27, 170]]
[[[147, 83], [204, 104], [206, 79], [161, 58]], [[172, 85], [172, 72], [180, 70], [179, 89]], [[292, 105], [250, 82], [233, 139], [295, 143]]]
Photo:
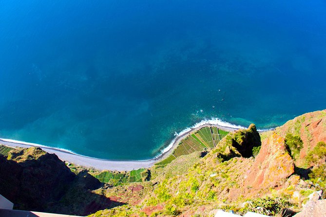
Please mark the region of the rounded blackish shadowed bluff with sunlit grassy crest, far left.
[[8, 158], [12, 160], [0, 160], [0, 173], [10, 177], [1, 182], [0, 194], [16, 209], [45, 210], [45, 204], [62, 197], [76, 176], [55, 154], [37, 147], [13, 150]]

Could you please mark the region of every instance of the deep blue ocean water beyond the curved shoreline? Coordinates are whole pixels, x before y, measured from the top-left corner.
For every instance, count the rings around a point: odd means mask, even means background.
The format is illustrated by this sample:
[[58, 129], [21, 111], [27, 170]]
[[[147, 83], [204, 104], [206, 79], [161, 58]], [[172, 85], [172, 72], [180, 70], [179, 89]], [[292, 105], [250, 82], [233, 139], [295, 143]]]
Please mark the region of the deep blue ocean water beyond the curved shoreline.
[[0, 138], [115, 160], [326, 108], [324, 0], [0, 1]]

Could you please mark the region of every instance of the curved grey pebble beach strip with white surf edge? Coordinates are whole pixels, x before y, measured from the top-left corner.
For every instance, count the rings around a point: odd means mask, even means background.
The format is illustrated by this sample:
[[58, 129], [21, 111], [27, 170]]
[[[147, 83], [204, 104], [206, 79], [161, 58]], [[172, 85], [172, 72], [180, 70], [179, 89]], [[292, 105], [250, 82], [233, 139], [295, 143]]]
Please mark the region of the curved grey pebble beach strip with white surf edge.
[[48, 153], [56, 154], [58, 158], [62, 161], [78, 164], [85, 167], [93, 167], [98, 170], [130, 171], [139, 168], [149, 168], [153, 166], [154, 163], [159, 162], [164, 158], [168, 157], [173, 152], [173, 150], [177, 147], [177, 145], [180, 143], [181, 140], [183, 140], [185, 137], [192, 134], [194, 131], [197, 131], [203, 127], [218, 127], [222, 130], [229, 131], [229, 132], [237, 130], [239, 128], [245, 128], [241, 126], [233, 126], [230, 124], [228, 124], [227, 126], [221, 126], [219, 124], [210, 121], [206, 121], [206, 122], [203, 121], [177, 134], [177, 136], [172, 140], [170, 145], [167, 148], [163, 149], [162, 153], [158, 157], [150, 160], [144, 160], [144, 161], [104, 160], [104, 159], [82, 156], [65, 149], [48, 147], [48, 146], [38, 145], [33, 143], [25, 143], [21, 141], [10, 140], [10, 139], [2, 139], [2, 138], [0, 138], [0, 144], [12, 146], [12, 147], [23, 147], [23, 148], [37, 146], [42, 148], [44, 151]]

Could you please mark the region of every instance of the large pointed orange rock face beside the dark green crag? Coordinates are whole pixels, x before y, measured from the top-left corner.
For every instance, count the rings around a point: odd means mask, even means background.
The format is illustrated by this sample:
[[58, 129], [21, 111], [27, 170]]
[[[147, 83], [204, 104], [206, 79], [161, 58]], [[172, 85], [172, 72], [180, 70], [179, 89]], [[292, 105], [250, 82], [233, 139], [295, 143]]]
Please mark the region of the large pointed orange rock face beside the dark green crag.
[[286, 152], [284, 138], [273, 133], [262, 144], [244, 186], [256, 189], [275, 187], [294, 173], [294, 163]]

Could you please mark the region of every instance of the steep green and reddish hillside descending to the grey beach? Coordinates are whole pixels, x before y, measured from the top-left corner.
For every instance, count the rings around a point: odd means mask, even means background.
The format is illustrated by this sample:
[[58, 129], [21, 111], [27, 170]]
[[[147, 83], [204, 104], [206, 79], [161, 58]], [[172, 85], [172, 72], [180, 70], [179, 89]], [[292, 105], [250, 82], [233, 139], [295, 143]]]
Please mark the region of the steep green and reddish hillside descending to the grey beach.
[[191, 143], [186, 138], [181, 151], [173, 152], [182, 154], [131, 172], [68, 167], [40, 148], [5, 150], [0, 194], [17, 209], [92, 217], [206, 217], [216, 209], [275, 215], [287, 208], [292, 215], [312, 192], [325, 189], [326, 110], [261, 134], [252, 124], [223, 138], [212, 128], [193, 135]]

